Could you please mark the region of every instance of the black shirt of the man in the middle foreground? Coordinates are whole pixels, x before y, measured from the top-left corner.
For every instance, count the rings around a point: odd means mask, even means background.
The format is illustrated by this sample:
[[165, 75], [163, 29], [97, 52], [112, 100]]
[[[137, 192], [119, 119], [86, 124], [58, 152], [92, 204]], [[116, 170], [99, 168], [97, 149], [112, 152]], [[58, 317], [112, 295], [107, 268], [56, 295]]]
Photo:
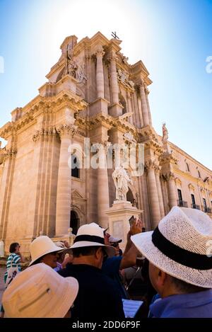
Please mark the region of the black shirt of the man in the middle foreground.
[[91, 265], [66, 265], [60, 270], [63, 277], [75, 277], [79, 290], [74, 307], [71, 309], [71, 319], [98, 321], [109, 319], [124, 319], [122, 298], [114, 281], [102, 270]]

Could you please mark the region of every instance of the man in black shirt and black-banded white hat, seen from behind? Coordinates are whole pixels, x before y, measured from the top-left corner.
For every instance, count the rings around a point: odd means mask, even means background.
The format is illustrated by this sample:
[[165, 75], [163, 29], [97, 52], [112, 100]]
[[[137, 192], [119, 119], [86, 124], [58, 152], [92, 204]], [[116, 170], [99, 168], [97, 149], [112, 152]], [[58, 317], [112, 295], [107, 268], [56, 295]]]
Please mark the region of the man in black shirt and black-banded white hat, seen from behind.
[[122, 298], [115, 283], [102, 273], [102, 261], [114, 256], [114, 248], [105, 246], [103, 229], [98, 224], [85, 224], [78, 229], [73, 246], [73, 263], [59, 274], [76, 277], [79, 292], [71, 318], [81, 321], [122, 320]]

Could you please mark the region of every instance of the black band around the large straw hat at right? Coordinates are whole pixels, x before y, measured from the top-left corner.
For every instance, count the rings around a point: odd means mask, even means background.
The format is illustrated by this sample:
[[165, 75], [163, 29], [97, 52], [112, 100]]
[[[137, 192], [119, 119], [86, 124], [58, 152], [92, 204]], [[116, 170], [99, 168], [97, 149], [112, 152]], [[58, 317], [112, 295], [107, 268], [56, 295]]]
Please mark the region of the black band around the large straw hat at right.
[[152, 241], [165, 256], [179, 264], [196, 270], [210, 270], [212, 268], [212, 257], [201, 255], [200, 253], [192, 253], [175, 244], [160, 233], [159, 228], [155, 228], [152, 235]]

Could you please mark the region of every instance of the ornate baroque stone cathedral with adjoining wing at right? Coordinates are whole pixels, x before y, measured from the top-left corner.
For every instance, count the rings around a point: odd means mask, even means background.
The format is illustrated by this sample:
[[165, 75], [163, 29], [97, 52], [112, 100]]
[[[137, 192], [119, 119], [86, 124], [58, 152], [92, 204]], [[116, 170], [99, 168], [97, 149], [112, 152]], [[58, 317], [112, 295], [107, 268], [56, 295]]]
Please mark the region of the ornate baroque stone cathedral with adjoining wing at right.
[[[80, 42], [66, 38], [39, 95], [1, 127], [7, 145], [0, 148], [0, 239], [6, 251], [18, 241], [28, 253], [41, 231], [54, 238], [89, 222], [107, 225], [105, 210], [115, 199], [112, 169], [71, 171], [67, 163], [69, 146], [84, 149], [86, 137], [105, 147], [145, 144], [145, 172], [133, 178], [127, 199], [143, 210], [147, 229], [177, 204], [212, 216], [211, 170], [168, 142], [165, 125], [163, 137], [155, 132], [149, 73], [141, 61], [128, 63], [120, 43], [101, 33]], [[78, 151], [72, 159], [85, 162]]]

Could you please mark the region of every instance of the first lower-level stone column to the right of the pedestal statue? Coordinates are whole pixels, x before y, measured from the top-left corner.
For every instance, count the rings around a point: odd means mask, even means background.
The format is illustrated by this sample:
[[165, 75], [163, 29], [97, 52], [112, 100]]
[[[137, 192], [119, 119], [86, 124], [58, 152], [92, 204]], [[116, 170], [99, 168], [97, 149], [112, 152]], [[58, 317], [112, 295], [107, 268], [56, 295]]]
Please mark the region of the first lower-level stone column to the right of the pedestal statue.
[[154, 161], [147, 161], [146, 171], [148, 177], [148, 193], [150, 196], [150, 204], [151, 204], [151, 221], [152, 227], [155, 228], [158, 226], [158, 222], [160, 221], [160, 205], [158, 200], [158, 189], [155, 180], [155, 163]]

